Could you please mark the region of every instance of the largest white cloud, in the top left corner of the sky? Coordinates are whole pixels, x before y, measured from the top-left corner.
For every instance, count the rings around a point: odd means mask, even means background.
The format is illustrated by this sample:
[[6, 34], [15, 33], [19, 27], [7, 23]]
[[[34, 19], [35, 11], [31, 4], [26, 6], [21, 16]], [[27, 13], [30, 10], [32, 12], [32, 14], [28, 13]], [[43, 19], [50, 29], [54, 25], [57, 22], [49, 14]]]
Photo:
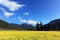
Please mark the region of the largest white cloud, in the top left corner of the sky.
[[9, 8], [11, 11], [18, 10], [19, 8], [22, 8], [23, 6], [25, 6], [23, 4], [18, 4], [15, 1], [9, 1], [9, 0], [0, 0], [0, 4]]

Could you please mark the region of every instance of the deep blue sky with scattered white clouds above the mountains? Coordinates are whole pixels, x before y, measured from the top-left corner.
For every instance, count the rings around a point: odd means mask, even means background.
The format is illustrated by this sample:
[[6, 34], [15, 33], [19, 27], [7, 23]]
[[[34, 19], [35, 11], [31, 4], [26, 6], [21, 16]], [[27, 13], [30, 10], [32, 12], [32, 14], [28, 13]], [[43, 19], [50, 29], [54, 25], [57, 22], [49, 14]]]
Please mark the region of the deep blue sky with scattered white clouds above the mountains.
[[46, 24], [60, 18], [60, 0], [0, 0], [0, 19], [9, 23]]

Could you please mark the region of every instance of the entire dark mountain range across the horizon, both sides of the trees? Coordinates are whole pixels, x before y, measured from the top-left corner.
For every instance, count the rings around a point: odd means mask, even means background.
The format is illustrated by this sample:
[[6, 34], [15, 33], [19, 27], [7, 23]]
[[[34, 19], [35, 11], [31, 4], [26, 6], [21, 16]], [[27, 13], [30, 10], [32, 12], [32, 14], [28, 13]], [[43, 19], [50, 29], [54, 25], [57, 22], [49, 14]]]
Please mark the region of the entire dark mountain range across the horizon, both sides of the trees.
[[[60, 31], [60, 19], [55, 19], [50, 21], [49, 23], [42, 25], [39, 24], [40, 31]], [[0, 19], [0, 30], [38, 30], [37, 26], [33, 26], [31, 24], [23, 23], [23, 24], [15, 24], [8, 23], [4, 20]]]

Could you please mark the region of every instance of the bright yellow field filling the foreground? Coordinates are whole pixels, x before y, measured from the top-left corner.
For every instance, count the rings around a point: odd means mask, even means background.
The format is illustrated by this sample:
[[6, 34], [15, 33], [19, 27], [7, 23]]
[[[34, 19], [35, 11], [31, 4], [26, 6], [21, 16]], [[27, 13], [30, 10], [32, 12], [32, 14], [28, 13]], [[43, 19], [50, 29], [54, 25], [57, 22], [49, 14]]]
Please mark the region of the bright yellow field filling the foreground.
[[0, 40], [60, 40], [58, 31], [0, 31]]

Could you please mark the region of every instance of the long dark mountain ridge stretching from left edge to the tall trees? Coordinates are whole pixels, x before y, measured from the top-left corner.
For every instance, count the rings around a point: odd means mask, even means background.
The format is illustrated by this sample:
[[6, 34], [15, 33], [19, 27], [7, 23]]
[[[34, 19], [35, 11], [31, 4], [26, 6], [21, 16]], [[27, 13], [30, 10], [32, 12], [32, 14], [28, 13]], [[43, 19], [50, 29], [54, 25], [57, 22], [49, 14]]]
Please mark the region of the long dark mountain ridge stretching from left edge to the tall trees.
[[35, 26], [27, 23], [23, 24], [15, 24], [15, 23], [8, 23], [4, 20], [0, 20], [0, 29], [7, 29], [7, 30], [36, 30]]

